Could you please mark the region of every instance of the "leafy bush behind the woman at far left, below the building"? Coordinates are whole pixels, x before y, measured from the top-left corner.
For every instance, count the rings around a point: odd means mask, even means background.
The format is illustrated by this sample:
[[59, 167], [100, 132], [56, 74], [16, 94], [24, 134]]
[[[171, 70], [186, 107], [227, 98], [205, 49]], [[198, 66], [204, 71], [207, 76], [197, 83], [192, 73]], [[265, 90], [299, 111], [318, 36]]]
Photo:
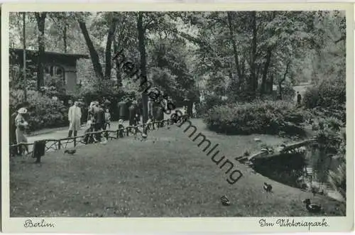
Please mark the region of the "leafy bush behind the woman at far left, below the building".
[[50, 97], [39, 92], [28, 91], [27, 102], [27, 105], [23, 104], [23, 92], [21, 90], [10, 92], [11, 114], [21, 106], [26, 106], [28, 109], [26, 119], [31, 131], [68, 125], [68, 109], [60, 101], [50, 99]]

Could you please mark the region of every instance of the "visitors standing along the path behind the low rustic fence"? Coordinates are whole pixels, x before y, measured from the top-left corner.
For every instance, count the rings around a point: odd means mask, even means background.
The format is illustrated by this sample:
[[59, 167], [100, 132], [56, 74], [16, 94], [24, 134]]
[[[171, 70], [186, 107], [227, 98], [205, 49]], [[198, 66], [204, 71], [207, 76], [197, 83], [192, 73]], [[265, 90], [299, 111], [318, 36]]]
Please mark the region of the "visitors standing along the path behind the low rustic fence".
[[[77, 136], [77, 132], [81, 129], [83, 111], [84, 111], [84, 102], [81, 100], [73, 102], [69, 100], [67, 102], [69, 106], [68, 111], [68, 121], [69, 121], [69, 131], [68, 137]], [[164, 119], [164, 111], [168, 109], [168, 101], [163, 100], [161, 103], [156, 103], [152, 99], [148, 98], [148, 123], [152, 121], [162, 121]], [[190, 106], [189, 106], [190, 107]], [[117, 104], [119, 112], [119, 129], [124, 128], [124, 120], [129, 119], [129, 126], [137, 126], [141, 123], [141, 116], [143, 115], [143, 104], [137, 102], [136, 100], [131, 99], [122, 99], [121, 102]], [[184, 106], [185, 114], [187, 114], [187, 105]], [[192, 117], [196, 117], [196, 106], [195, 103], [192, 103]], [[128, 114], [127, 114], [128, 111]], [[28, 129], [28, 122], [26, 121], [27, 109], [22, 107], [18, 109], [16, 115], [14, 126], [16, 128], [16, 143], [27, 143], [26, 138], [26, 129]], [[87, 129], [84, 131], [84, 138], [82, 139], [83, 143], [92, 143], [102, 141], [102, 134], [90, 132], [97, 132], [102, 130], [107, 130], [111, 128], [111, 113], [109, 110], [109, 102], [102, 102], [100, 104], [97, 101], [91, 102], [87, 108]], [[85, 134], [87, 133], [87, 134]], [[89, 134], [90, 133], [90, 134]], [[123, 136], [124, 132], [121, 131], [119, 136]], [[15, 137], [15, 136], [13, 136]], [[107, 138], [108, 136], [104, 136]], [[14, 140], [11, 141], [14, 143]], [[23, 149], [24, 148], [24, 149]], [[21, 154], [24, 150], [28, 151], [27, 146], [19, 148], [18, 152]]]

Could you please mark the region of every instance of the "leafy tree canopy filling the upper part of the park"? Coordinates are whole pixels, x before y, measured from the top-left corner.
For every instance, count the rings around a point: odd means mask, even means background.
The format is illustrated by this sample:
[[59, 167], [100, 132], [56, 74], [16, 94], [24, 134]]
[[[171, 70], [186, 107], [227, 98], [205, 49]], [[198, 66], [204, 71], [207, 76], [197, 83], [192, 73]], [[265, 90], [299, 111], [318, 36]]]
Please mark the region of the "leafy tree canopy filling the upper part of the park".
[[[282, 92], [299, 82], [345, 80], [345, 23], [342, 11], [28, 12], [26, 44], [40, 55], [90, 55], [92, 73], [82, 80], [112, 80], [119, 89], [136, 86], [111, 60], [122, 50], [174, 99], [202, 91], [256, 99], [273, 85]], [[11, 13], [14, 48], [23, 46], [22, 27], [21, 13]], [[41, 80], [38, 72], [37, 87]]]

